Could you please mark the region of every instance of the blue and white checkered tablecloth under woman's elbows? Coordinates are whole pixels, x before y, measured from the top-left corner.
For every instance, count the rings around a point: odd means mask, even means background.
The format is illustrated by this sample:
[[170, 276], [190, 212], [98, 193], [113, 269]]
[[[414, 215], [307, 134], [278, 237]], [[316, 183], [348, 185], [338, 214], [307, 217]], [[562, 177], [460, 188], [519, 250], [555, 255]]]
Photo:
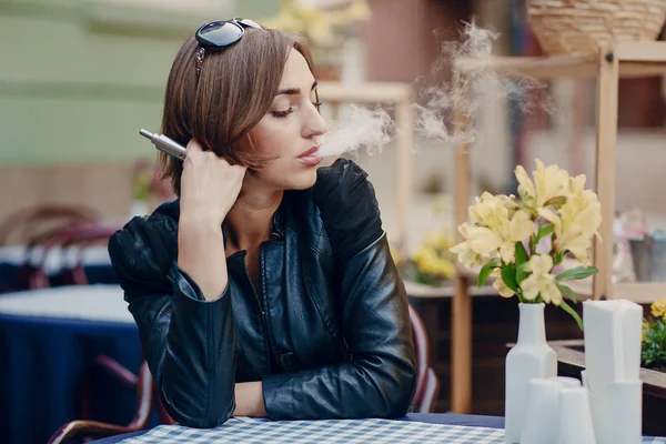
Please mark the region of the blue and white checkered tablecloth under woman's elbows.
[[[144, 435], [122, 442], [127, 444], [504, 444], [504, 431], [389, 420], [264, 421], [231, 418], [224, 425], [211, 430], [160, 425]], [[666, 444], [666, 438], [645, 437], [643, 444]]]

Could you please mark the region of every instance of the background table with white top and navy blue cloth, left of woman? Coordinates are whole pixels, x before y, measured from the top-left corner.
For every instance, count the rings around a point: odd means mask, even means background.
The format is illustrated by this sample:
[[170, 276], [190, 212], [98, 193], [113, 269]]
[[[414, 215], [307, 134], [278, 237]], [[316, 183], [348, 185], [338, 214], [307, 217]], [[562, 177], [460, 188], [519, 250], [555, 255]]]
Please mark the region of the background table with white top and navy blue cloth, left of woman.
[[[0, 442], [43, 443], [81, 417], [81, 380], [100, 354], [135, 372], [139, 333], [118, 285], [0, 295]], [[95, 420], [129, 423], [134, 392], [95, 377]], [[105, 387], [102, 387], [105, 386]]]

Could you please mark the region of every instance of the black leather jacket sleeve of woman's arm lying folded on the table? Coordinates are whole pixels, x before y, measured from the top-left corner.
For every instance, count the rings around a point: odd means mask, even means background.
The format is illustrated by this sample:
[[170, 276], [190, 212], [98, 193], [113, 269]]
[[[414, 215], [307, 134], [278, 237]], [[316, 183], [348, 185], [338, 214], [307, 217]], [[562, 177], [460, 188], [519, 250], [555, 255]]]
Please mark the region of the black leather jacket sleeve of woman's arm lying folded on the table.
[[322, 169], [315, 195], [331, 239], [351, 360], [264, 377], [276, 420], [400, 417], [415, 387], [407, 297], [366, 173], [351, 161]]

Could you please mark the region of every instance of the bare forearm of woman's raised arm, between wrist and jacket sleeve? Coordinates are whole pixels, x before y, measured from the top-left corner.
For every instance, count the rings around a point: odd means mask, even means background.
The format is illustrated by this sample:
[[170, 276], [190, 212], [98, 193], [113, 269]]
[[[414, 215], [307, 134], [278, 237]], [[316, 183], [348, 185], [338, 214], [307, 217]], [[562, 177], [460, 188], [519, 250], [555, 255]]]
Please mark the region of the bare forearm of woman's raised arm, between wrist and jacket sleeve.
[[199, 285], [206, 301], [219, 299], [229, 281], [221, 225], [181, 214], [178, 266]]

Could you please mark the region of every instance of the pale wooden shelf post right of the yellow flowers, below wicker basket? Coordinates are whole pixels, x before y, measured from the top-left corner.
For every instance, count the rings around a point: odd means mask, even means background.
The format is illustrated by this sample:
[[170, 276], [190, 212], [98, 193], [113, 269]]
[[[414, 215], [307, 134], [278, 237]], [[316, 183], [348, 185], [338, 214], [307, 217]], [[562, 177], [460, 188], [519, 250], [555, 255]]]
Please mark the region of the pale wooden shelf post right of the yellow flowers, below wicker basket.
[[593, 297], [613, 299], [613, 220], [615, 218], [615, 154], [619, 63], [614, 46], [601, 48], [597, 78], [596, 193], [602, 204], [601, 240], [594, 242]]

